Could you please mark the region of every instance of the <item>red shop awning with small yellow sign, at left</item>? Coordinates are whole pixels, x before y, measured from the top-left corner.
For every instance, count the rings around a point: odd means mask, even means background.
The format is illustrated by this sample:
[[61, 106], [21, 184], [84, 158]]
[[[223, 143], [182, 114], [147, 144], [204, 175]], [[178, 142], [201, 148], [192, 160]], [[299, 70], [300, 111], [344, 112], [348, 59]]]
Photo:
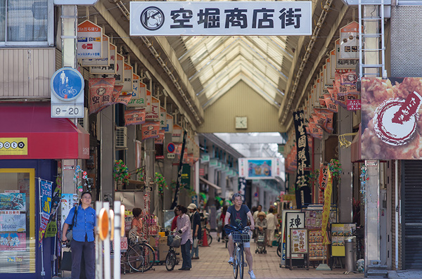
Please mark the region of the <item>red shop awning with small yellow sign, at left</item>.
[[0, 160], [89, 159], [89, 134], [48, 102], [0, 103]]

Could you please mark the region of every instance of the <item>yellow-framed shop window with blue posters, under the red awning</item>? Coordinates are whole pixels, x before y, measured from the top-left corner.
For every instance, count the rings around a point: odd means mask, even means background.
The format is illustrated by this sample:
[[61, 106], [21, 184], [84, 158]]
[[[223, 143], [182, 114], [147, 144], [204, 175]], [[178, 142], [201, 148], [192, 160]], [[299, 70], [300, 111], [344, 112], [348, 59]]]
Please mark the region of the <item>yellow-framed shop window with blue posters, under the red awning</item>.
[[35, 272], [34, 174], [0, 169], [0, 273]]

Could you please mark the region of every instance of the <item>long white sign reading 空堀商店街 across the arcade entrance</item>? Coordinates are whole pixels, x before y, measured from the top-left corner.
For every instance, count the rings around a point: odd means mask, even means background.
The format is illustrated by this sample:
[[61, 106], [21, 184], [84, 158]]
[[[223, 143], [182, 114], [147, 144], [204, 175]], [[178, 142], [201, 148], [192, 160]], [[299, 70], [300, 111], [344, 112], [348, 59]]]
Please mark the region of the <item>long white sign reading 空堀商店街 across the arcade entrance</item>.
[[131, 36], [312, 34], [311, 1], [130, 2]]

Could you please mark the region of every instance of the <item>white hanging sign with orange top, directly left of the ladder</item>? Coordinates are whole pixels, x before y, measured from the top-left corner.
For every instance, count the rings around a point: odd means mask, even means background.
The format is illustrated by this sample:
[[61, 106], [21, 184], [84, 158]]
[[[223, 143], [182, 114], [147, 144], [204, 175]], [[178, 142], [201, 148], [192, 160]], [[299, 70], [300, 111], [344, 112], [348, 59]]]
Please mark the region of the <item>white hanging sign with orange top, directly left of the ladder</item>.
[[340, 58], [359, 59], [359, 23], [350, 22], [340, 28]]

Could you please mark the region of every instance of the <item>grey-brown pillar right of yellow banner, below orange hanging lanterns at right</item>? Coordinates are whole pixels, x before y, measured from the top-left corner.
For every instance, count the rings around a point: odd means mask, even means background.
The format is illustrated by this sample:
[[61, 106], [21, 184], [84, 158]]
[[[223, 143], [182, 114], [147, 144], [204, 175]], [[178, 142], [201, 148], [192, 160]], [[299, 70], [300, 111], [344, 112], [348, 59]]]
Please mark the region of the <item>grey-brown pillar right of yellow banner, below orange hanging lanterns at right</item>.
[[[338, 106], [338, 134], [352, 132], [352, 111]], [[351, 138], [352, 137], [347, 137]], [[341, 164], [341, 183], [338, 186], [338, 209], [341, 223], [352, 223], [353, 214], [353, 181], [352, 181], [352, 148], [338, 148], [338, 161]]]

